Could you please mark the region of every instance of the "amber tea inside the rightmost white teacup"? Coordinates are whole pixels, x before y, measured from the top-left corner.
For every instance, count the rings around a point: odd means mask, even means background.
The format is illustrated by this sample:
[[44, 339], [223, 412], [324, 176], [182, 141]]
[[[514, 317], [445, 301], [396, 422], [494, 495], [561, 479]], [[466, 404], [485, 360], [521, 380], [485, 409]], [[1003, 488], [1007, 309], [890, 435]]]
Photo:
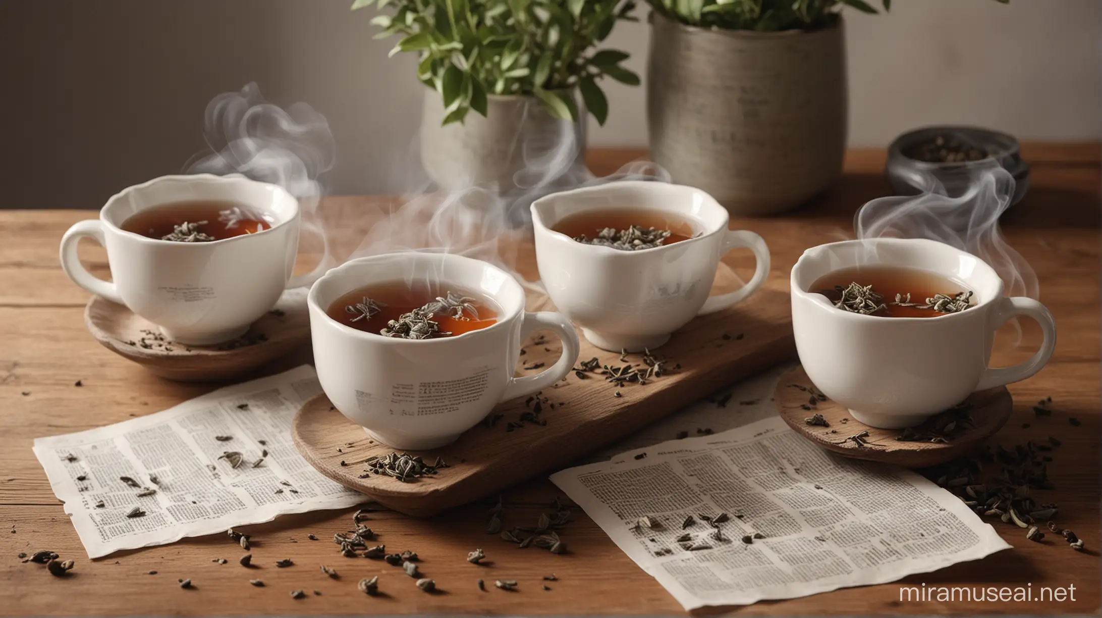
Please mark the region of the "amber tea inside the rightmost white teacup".
[[864, 266], [833, 270], [811, 284], [808, 291], [819, 292], [831, 302], [838, 302], [842, 294], [835, 286], [845, 288], [852, 283], [873, 286], [873, 291], [884, 297], [882, 302], [887, 307], [872, 313], [884, 318], [937, 318], [946, 315], [933, 309], [892, 305], [897, 294], [903, 295], [904, 299], [910, 294], [911, 302], [925, 305], [927, 298], [932, 298], [937, 294], [953, 296], [970, 291], [964, 284], [937, 273], [896, 266]]

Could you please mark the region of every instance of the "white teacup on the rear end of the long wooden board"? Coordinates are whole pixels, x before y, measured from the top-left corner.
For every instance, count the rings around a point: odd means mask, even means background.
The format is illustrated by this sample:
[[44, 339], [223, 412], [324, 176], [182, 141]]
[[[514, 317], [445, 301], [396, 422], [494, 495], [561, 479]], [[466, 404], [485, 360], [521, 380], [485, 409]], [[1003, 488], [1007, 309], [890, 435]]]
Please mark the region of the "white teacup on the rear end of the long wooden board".
[[[554, 231], [563, 219], [601, 210], [672, 213], [699, 227], [695, 237], [642, 251], [575, 242]], [[727, 230], [727, 210], [692, 187], [620, 181], [554, 193], [532, 203], [536, 259], [555, 307], [604, 350], [657, 348], [696, 316], [726, 309], [754, 294], [769, 273], [761, 236]], [[709, 297], [720, 258], [745, 247], [754, 276], [742, 288]]]

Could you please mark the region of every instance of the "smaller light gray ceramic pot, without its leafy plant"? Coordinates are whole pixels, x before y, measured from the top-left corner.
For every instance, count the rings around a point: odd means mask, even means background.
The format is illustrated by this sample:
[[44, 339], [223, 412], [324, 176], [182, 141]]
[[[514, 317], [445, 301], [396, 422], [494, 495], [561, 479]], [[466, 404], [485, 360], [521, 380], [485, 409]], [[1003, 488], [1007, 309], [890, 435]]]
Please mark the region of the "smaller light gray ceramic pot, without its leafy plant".
[[[584, 118], [585, 108], [577, 103]], [[440, 95], [426, 89], [421, 163], [445, 191], [496, 184], [509, 194], [585, 170], [585, 122], [554, 118], [533, 97], [490, 95], [485, 117], [471, 111], [462, 124], [441, 126], [443, 117]]]

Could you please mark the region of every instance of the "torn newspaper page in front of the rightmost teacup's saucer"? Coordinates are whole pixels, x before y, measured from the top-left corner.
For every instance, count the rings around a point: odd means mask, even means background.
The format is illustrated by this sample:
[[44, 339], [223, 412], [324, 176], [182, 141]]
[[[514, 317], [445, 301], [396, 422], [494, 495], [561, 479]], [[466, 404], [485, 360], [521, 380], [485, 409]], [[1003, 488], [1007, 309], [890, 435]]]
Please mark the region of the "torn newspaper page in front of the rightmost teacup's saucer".
[[687, 610], [882, 584], [1009, 547], [921, 476], [824, 451], [776, 415], [551, 480]]

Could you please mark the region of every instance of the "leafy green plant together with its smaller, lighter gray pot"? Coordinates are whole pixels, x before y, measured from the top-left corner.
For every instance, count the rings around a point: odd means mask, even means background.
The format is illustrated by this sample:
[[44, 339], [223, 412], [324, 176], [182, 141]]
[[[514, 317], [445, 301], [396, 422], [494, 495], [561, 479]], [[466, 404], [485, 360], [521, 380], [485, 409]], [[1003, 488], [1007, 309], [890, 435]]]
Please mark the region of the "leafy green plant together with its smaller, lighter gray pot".
[[[595, 47], [634, 0], [356, 0], [377, 36], [418, 54], [426, 93], [421, 161], [442, 189], [507, 191], [582, 162], [585, 116], [604, 124], [605, 77], [637, 85], [628, 54]], [[386, 12], [381, 12], [386, 11]], [[474, 114], [472, 114], [474, 111]]]

